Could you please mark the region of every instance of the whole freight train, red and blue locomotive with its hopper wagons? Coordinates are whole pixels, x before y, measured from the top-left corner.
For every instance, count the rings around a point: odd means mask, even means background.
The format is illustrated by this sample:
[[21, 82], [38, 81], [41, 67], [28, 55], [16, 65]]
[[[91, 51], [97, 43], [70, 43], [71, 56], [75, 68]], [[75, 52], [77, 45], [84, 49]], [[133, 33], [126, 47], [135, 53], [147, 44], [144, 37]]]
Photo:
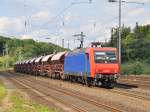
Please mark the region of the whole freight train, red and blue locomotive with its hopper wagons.
[[116, 48], [89, 47], [16, 63], [16, 72], [114, 88], [120, 74]]

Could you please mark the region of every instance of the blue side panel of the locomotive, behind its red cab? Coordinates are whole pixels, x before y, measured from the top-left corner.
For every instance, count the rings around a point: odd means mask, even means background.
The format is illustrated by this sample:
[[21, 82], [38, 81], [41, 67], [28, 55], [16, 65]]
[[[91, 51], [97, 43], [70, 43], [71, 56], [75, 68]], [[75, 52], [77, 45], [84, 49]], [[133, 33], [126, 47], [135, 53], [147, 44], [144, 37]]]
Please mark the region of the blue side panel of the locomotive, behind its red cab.
[[72, 75], [87, 75], [90, 77], [90, 64], [87, 55], [82, 53], [68, 54], [65, 57], [64, 72]]

